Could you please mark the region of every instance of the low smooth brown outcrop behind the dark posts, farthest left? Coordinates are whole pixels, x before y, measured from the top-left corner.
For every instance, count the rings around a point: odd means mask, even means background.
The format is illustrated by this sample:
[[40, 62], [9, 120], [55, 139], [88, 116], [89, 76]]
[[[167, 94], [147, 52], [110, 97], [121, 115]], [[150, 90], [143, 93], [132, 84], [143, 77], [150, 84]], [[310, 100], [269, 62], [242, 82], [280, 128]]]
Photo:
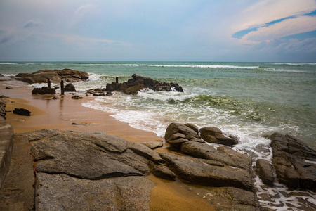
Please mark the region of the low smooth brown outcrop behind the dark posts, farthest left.
[[32, 73], [19, 73], [15, 76], [15, 79], [18, 79], [22, 82], [27, 82], [29, 84], [34, 83], [47, 83], [47, 80], [50, 79], [52, 83], [60, 83], [62, 79], [66, 82], [79, 82], [85, 81], [88, 79], [89, 75], [87, 72], [82, 72], [78, 70], [39, 70]]

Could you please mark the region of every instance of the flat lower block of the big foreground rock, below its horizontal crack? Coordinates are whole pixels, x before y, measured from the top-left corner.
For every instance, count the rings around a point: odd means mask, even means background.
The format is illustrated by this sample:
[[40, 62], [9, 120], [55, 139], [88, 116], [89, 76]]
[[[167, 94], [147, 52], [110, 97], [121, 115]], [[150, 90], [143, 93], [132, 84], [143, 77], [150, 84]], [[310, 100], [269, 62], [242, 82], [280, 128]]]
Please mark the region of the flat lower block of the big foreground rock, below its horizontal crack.
[[146, 177], [89, 180], [37, 173], [35, 210], [149, 210], [154, 186]]

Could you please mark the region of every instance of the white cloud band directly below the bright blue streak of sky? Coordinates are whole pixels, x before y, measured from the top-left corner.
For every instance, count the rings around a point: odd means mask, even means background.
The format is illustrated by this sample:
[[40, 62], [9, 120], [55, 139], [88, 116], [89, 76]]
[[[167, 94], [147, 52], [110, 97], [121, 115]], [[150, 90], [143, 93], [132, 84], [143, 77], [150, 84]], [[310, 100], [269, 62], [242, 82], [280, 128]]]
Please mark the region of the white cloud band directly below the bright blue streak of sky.
[[241, 41], [265, 41], [313, 30], [316, 30], [316, 17], [300, 16], [286, 19], [267, 27], [260, 27], [257, 31], [246, 34]]

